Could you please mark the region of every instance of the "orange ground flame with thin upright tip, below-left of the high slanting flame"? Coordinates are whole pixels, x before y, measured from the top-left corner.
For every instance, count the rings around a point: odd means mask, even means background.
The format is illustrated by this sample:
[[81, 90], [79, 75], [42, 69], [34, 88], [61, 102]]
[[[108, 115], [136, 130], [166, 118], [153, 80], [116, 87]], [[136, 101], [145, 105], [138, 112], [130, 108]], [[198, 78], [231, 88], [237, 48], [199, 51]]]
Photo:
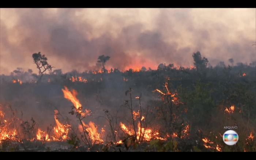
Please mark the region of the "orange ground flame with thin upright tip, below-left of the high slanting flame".
[[54, 114], [54, 118], [56, 121], [56, 127], [53, 127], [54, 130], [54, 136], [52, 137], [54, 141], [61, 141], [61, 140], [65, 140], [68, 138], [68, 130], [70, 125], [63, 125], [59, 122], [58, 118], [57, 118], [57, 110], [54, 110], [55, 114]]

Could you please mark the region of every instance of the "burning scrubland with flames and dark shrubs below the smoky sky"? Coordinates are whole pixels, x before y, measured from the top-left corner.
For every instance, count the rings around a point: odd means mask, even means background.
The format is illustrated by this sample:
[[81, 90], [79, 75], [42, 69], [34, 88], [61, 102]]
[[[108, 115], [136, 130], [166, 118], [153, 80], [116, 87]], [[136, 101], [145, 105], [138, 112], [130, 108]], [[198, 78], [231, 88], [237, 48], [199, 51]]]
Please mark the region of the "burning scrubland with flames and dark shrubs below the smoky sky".
[[[129, 71], [108, 71], [105, 66], [110, 57], [102, 55], [98, 58], [102, 65], [99, 71], [77, 73], [76, 76], [75, 71], [69, 73], [70, 76], [54, 71], [60, 76], [56, 81], [53, 77], [57, 78], [56, 74], [42, 76], [53, 68], [46, 63], [47, 58], [40, 52], [33, 55], [40, 72], [38, 80], [33, 81], [37, 84], [21, 81], [20, 77], [4, 82], [7, 85], [1, 83], [1, 88], [6, 87], [4, 94], [1, 92], [1, 101], [8, 99], [5, 94], [13, 99], [22, 97], [20, 92], [29, 94], [26, 97], [36, 101], [38, 108], [44, 105], [55, 107], [51, 108], [50, 117], [54, 124], [39, 127], [33, 118], [24, 120], [23, 114], [18, 118], [18, 111], [12, 110], [11, 105], [1, 105], [0, 151], [29, 151], [25, 147], [27, 142], [66, 143], [65, 151], [256, 151], [253, 127], [256, 95], [252, 90], [255, 83], [250, 81], [252, 71], [241, 69], [237, 75], [238, 72], [232, 73], [230, 68], [224, 67], [223, 72], [215, 73], [219, 68], [207, 68], [208, 60], [201, 58], [200, 53], [193, 54], [195, 65], [187, 68], [161, 64], [157, 70], [135, 67]], [[220, 80], [216, 80], [216, 76]], [[60, 96], [52, 93], [56, 82], [61, 86]], [[49, 86], [50, 89], [40, 96], [31, 89], [37, 85], [41, 86], [38, 88], [42, 92]], [[130, 88], [125, 91], [127, 86]], [[50, 98], [52, 101], [48, 100]], [[22, 100], [23, 106], [27, 105], [26, 98], [22, 97]], [[66, 105], [68, 101], [72, 106]], [[62, 106], [54, 102], [62, 103]], [[114, 110], [119, 106], [121, 109], [115, 114]], [[71, 107], [70, 117], [62, 117], [61, 107]], [[223, 124], [249, 131], [239, 137], [237, 145], [230, 147], [222, 139], [221, 133], [225, 130], [219, 128]]]

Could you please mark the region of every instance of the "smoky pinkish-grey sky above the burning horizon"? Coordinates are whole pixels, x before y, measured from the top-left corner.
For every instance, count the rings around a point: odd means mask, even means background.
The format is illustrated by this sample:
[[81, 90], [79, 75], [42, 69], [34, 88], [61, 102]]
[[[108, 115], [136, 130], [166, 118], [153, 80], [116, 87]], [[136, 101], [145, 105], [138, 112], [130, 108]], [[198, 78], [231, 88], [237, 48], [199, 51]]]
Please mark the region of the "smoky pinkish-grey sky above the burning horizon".
[[216, 66], [256, 61], [255, 8], [0, 8], [0, 75], [38, 74], [41, 52], [63, 73], [106, 68], [193, 66], [199, 51]]

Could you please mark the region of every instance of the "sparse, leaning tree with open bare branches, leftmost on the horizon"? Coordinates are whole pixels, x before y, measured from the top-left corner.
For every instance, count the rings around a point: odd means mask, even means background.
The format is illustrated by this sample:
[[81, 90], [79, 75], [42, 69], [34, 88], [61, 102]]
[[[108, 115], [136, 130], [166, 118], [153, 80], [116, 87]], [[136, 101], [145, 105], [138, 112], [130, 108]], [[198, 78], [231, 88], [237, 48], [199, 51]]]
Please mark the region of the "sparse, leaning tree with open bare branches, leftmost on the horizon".
[[54, 67], [48, 64], [47, 58], [45, 57], [45, 55], [41, 55], [40, 52], [32, 54], [32, 57], [34, 59], [34, 63], [37, 65], [37, 68], [39, 69], [40, 78], [38, 82], [40, 82], [42, 79], [43, 73], [47, 69], [50, 69], [50, 71], [52, 71], [52, 68]]

